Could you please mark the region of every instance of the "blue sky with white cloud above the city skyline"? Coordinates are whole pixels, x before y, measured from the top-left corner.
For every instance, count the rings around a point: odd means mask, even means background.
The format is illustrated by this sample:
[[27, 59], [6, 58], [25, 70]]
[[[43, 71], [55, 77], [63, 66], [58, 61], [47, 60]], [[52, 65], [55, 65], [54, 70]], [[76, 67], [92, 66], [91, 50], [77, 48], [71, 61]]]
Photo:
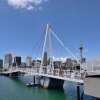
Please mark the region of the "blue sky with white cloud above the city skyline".
[[13, 53], [34, 59], [47, 23], [78, 52], [82, 41], [87, 59], [100, 56], [100, 0], [0, 0], [0, 58]]

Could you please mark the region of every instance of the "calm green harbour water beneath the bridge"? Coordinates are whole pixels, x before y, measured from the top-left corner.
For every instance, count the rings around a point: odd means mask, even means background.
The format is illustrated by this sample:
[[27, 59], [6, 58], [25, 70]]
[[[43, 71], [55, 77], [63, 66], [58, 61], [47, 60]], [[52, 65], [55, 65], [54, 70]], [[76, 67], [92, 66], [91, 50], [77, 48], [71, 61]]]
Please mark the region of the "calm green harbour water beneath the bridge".
[[[40, 87], [27, 87], [32, 77], [8, 78], [0, 76], [0, 100], [77, 100], [76, 85], [65, 82], [64, 90], [48, 90]], [[81, 87], [81, 92], [83, 91]], [[95, 100], [84, 96], [84, 100]]]

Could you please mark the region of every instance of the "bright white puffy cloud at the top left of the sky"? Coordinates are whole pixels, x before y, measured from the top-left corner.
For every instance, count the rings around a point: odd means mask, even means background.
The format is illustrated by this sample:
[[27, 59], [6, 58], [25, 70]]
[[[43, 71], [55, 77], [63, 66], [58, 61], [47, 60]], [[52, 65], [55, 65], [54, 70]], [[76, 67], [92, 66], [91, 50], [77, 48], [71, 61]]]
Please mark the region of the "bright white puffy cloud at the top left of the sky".
[[42, 10], [41, 4], [47, 1], [48, 0], [8, 0], [8, 4], [16, 9]]

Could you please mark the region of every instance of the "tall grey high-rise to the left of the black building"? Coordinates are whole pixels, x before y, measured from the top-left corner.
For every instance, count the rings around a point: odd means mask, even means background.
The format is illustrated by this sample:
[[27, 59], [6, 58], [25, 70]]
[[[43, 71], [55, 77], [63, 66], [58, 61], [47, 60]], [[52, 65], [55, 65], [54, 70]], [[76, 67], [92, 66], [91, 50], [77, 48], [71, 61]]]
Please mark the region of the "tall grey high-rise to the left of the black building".
[[4, 68], [9, 68], [12, 66], [12, 54], [5, 54], [4, 57]]

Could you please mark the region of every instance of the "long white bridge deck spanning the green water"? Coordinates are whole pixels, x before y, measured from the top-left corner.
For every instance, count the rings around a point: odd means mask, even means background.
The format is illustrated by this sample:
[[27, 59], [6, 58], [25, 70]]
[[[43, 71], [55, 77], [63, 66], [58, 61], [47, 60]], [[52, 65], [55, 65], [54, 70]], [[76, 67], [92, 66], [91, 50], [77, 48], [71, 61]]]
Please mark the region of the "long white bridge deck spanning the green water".
[[25, 75], [45, 76], [45, 77], [50, 77], [50, 78], [55, 78], [55, 79], [83, 83], [83, 77], [80, 75], [80, 73], [76, 75], [74, 72], [66, 72], [64, 74], [54, 73], [53, 75], [52, 73], [41, 73], [40, 74], [38, 71], [32, 68], [28, 68], [28, 69], [6, 71], [6, 72], [3, 72], [3, 74], [9, 74], [9, 73], [15, 73], [15, 72], [25, 73]]

